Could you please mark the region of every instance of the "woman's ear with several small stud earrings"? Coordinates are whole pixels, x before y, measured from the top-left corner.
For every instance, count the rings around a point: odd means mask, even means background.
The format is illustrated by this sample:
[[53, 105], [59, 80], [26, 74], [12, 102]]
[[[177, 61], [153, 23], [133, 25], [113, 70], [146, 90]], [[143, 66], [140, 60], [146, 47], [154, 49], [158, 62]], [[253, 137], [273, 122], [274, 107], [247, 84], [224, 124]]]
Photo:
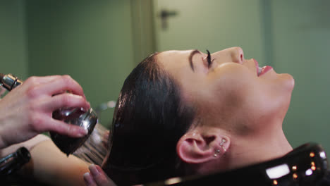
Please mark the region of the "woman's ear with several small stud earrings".
[[204, 163], [223, 156], [230, 145], [230, 138], [219, 132], [187, 132], [176, 145], [178, 156], [186, 163]]

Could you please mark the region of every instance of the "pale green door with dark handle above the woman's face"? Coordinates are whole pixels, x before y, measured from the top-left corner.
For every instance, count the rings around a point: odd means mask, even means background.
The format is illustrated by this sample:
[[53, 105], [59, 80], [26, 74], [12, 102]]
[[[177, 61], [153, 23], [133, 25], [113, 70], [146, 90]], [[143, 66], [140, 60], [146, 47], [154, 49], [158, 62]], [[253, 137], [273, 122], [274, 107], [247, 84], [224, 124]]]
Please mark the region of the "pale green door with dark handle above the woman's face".
[[[265, 60], [259, 0], [154, 0], [158, 51], [199, 49], [215, 52], [240, 46], [245, 58]], [[164, 20], [161, 11], [175, 12]], [[251, 47], [252, 46], [252, 47]]]

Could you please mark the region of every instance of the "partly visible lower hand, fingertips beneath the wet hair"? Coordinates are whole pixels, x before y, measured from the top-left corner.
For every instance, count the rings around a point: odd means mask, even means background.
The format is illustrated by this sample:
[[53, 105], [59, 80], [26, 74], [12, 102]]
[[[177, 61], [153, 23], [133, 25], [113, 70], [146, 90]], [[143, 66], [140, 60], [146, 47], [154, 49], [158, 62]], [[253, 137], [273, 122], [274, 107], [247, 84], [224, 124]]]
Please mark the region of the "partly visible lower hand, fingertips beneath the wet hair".
[[90, 168], [90, 173], [84, 174], [84, 180], [87, 186], [116, 186], [101, 167], [90, 165], [88, 168]]

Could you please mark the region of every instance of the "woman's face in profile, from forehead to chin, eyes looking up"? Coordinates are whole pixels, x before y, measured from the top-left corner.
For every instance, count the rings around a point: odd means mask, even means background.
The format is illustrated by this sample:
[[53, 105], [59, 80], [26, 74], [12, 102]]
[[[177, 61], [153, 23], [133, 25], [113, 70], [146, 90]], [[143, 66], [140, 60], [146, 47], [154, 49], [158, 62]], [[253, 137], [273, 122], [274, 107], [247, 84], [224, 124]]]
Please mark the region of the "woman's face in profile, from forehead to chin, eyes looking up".
[[260, 68], [255, 59], [244, 58], [240, 47], [207, 56], [197, 50], [157, 55], [183, 100], [197, 109], [198, 122], [244, 135], [283, 121], [294, 86], [291, 75]]

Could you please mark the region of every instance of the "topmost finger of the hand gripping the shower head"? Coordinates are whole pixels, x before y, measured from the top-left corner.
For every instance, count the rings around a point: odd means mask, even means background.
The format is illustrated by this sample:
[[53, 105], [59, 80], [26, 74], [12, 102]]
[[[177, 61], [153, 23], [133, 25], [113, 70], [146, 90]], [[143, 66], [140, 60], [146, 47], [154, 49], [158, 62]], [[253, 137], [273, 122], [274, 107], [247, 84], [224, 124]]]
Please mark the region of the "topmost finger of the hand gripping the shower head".
[[39, 88], [39, 91], [46, 92], [51, 95], [59, 94], [66, 90], [72, 92], [73, 94], [85, 97], [82, 87], [69, 75], [62, 75], [59, 78], [55, 78]]

